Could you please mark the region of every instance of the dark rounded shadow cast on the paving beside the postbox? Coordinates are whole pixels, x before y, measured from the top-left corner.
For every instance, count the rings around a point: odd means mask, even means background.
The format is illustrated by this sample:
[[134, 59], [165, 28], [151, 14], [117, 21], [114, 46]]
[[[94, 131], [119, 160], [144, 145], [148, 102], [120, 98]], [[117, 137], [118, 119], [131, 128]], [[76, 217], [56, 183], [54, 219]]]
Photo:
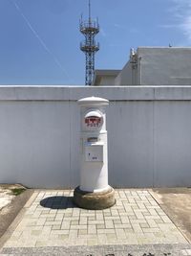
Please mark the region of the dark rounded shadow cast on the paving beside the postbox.
[[44, 198], [40, 201], [40, 205], [50, 209], [68, 209], [77, 208], [73, 202], [73, 197], [56, 196], [50, 198]]

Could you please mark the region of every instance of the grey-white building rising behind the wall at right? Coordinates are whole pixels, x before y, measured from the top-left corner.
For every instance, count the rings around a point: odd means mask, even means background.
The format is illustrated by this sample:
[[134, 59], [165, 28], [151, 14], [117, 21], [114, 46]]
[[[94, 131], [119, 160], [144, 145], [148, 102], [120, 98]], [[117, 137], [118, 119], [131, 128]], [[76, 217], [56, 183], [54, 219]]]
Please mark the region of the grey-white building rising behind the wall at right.
[[191, 48], [138, 47], [120, 70], [96, 70], [93, 85], [189, 85]]

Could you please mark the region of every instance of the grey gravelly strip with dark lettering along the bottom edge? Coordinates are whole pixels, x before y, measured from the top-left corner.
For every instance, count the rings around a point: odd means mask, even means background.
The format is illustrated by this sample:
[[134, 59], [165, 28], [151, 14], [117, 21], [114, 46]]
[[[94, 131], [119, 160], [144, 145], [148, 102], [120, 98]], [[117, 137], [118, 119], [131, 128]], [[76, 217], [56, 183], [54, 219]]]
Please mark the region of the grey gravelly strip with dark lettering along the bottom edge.
[[97, 245], [39, 248], [4, 248], [0, 255], [63, 256], [185, 256], [191, 255], [191, 244]]

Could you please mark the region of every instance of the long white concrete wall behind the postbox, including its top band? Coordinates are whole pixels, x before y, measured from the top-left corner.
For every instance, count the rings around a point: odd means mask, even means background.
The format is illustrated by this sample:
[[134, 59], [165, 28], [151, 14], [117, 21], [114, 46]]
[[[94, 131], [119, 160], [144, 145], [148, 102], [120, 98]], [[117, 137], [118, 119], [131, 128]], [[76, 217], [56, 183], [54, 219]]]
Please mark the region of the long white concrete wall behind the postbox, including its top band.
[[0, 183], [78, 185], [76, 101], [92, 95], [111, 101], [112, 186], [191, 186], [191, 86], [1, 86]]

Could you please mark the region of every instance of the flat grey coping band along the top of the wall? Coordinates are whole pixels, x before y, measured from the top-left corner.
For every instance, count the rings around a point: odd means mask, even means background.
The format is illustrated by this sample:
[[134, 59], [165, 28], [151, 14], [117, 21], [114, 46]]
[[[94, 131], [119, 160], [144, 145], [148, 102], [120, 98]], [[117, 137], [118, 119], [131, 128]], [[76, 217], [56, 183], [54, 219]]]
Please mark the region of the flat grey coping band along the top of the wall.
[[90, 96], [105, 98], [109, 101], [191, 101], [191, 85], [0, 85], [0, 101], [78, 101]]

